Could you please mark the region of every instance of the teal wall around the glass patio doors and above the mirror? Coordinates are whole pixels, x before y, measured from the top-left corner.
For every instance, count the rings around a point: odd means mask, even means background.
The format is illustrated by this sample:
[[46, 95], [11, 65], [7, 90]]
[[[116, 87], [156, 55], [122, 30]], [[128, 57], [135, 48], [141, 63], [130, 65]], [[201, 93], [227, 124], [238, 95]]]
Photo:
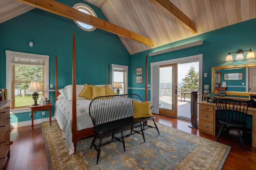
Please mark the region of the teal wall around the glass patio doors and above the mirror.
[[[182, 49], [178, 51], [173, 51], [170, 53], [165, 53], [162, 55], [156, 55], [153, 57], [148, 56], [148, 84], [150, 84], [150, 63], [165, 61], [171, 59], [177, 59], [181, 57], [188, 57], [198, 54], [203, 54], [203, 73], [208, 73], [207, 77], [202, 77], [203, 84], [211, 84], [211, 68], [215, 66], [226, 66], [226, 65], [236, 65], [236, 64], [247, 64], [256, 63], [256, 59], [240, 60], [240, 61], [228, 61], [225, 62], [228, 52], [235, 52], [240, 49], [248, 50], [252, 48], [252, 51], [256, 53], [256, 19], [244, 21], [228, 27], [210, 31], [201, 35], [197, 35], [188, 39], [170, 43], [161, 47], [143, 51], [131, 55], [130, 57], [130, 87], [133, 89], [129, 90], [129, 93], [135, 93], [138, 91], [136, 88], [145, 88], [144, 83], [136, 83], [136, 68], [143, 66], [143, 82], [145, 82], [145, 56], [146, 53], [152, 53], [160, 51], [163, 49], [168, 49], [170, 47], [176, 47], [178, 45], [183, 45], [186, 43], [191, 43], [194, 41], [202, 40], [203, 45], [190, 47], [187, 49]], [[168, 35], [166, 35], [168, 36]], [[247, 52], [244, 53], [244, 58]], [[233, 54], [235, 58], [235, 54]], [[135, 89], [134, 89], [135, 88]], [[209, 85], [211, 89], [211, 85]], [[204, 90], [204, 89], [203, 89]], [[149, 90], [150, 91], [150, 90]], [[144, 92], [139, 92], [144, 94]], [[141, 95], [144, 98], [144, 95]], [[148, 95], [148, 100], [150, 100], [150, 95]]]

